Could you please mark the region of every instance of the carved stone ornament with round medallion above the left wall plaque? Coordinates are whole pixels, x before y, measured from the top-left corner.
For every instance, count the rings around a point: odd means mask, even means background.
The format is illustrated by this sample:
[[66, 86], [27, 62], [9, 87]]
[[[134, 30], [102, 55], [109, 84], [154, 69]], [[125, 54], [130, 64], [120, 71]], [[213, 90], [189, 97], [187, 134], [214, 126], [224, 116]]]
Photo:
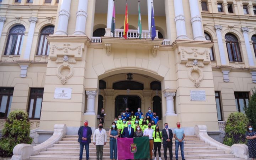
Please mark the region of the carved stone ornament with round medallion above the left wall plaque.
[[69, 63], [76, 63], [75, 58], [68, 58], [68, 56], [64, 55], [64, 57], [58, 57], [56, 63], [63, 63], [57, 68], [57, 76], [60, 79], [61, 83], [64, 85], [66, 81], [74, 74], [74, 67]]

